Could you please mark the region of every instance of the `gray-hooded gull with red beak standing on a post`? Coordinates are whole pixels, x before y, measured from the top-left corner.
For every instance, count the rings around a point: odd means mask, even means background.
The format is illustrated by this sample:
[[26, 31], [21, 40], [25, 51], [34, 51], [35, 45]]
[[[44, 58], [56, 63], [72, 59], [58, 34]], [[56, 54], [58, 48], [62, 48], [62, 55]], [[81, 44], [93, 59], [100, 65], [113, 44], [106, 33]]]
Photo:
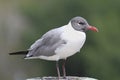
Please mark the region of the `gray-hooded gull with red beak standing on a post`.
[[33, 43], [29, 49], [9, 53], [10, 55], [25, 54], [25, 59], [43, 59], [56, 61], [58, 78], [61, 77], [59, 60], [63, 60], [63, 78], [66, 78], [66, 59], [80, 52], [86, 40], [86, 31], [98, 32], [98, 29], [88, 24], [81, 16], [73, 17], [67, 25], [46, 32]]

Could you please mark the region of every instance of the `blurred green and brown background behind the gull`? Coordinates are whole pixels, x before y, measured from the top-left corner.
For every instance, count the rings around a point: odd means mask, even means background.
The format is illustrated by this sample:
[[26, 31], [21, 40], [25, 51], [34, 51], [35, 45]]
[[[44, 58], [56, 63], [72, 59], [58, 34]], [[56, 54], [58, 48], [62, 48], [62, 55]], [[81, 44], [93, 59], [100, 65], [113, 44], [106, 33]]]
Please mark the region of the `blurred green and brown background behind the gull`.
[[55, 62], [8, 53], [28, 49], [75, 16], [99, 33], [87, 32], [81, 52], [67, 60], [67, 75], [120, 80], [120, 0], [0, 0], [0, 80], [57, 76]]

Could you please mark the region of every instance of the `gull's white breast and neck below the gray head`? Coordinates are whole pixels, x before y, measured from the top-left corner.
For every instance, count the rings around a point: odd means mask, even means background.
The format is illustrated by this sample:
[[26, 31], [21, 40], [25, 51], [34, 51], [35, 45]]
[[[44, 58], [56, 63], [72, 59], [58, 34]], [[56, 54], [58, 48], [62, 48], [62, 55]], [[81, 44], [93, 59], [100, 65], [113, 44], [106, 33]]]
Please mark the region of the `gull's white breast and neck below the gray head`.
[[64, 59], [80, 51], [86, 40], [86, 34], [74, 30], [71, 24], [68, 24], [64, 27], [64, 32], [62, 33], [61, 38], [67, 43], [58, 47], [55, 52], [60, 59]]

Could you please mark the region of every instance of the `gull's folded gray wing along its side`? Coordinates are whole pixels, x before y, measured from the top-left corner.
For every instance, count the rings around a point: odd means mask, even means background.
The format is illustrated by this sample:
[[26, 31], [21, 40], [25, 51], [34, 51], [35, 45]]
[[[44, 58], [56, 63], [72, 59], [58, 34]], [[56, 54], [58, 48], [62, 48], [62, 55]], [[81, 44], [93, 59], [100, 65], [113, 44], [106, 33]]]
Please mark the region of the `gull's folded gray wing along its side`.
[[54, 55], [56, 48], [66, 44], [66, 41], [60, 38], [61, 34], [62, 30], [59, 28], [48, 31], [30, 47], [26, 57]]

